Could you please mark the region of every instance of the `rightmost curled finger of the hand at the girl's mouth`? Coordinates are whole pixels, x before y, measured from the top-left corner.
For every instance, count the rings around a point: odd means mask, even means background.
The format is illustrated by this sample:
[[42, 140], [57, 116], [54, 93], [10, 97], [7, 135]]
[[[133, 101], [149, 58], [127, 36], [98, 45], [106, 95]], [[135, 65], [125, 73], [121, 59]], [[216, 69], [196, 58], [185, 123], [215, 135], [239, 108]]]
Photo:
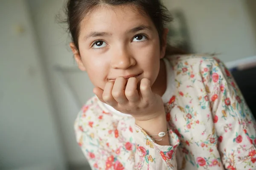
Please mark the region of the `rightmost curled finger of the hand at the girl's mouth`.
[[140, 93], [144, 101], [148, 101], [154, 97], [149, 79], [144, 78], [140, 81]]

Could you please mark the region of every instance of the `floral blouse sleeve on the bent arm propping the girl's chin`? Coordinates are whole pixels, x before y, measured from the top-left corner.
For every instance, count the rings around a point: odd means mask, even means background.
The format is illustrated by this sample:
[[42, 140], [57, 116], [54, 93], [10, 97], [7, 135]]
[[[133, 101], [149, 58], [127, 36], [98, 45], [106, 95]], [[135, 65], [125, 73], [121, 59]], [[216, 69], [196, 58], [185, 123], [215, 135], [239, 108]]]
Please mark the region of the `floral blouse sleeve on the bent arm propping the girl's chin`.
[[[103, 122], [96, 117], [101, 117]], [[177, 170], [175, 150], [179, 140], [172, 130], [169, 131], [170, 145], [160, 146], [130, 118], [111, 121], [105, 113], [102, 118], [87, 105], [76, 119], [76, 140], [92, 170]], [[102, 130], [104, 128], [106, 130]]]

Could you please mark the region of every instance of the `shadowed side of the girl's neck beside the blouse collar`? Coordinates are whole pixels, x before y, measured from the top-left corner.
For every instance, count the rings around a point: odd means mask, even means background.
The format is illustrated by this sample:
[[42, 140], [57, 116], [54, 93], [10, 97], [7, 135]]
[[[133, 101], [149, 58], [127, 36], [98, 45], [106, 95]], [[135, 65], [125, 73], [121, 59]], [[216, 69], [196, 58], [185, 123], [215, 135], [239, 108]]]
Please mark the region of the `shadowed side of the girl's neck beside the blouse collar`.
[[156, 81], [152, 85], [152, 91], [159, 96], [163, 96], [167, 88], [166, 65], [163, 59], [160, 59], [160, 70]]

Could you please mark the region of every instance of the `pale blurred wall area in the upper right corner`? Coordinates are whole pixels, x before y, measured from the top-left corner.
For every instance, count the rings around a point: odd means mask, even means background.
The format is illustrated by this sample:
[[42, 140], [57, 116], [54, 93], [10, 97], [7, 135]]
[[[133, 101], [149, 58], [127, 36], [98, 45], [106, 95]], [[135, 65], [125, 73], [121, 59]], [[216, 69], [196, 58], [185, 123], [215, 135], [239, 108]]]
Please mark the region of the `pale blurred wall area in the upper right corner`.
[[[255, 0], [250, 4], [255, 5]], [[195, 53], [220, 53], [224, 62], [256, 55], [256, 29], [244, 0], [163, 0], [183, 12]], [[255, 10], [256, 6], [250, 6]], [[251, 17], [250, 17], [251, 14]], [[254, 12], [255, 14], [255, 12]], [[175, 21], [174, 21], [175, 22]]]

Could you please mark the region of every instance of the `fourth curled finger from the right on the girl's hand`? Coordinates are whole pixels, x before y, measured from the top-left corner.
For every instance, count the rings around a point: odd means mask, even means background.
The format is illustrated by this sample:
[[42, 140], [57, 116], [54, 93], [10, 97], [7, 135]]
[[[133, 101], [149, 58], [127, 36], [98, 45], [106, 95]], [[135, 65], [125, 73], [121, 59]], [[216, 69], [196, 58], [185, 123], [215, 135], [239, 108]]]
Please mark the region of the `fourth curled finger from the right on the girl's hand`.
[[102, 94], [102, 99], [108, 105], [111, 105], [111, 106], [114, 107], [114, 106], [116, 106], [117, 102], [116, 102], [116, 100], [113, 98], [113, 96], [111, 94], [112, 89], [113, 89], [113, 85], [114, 85], [114, 82], [107, 82], [107, 84], [105, 85], [103, 94]]

